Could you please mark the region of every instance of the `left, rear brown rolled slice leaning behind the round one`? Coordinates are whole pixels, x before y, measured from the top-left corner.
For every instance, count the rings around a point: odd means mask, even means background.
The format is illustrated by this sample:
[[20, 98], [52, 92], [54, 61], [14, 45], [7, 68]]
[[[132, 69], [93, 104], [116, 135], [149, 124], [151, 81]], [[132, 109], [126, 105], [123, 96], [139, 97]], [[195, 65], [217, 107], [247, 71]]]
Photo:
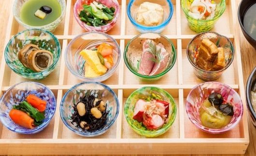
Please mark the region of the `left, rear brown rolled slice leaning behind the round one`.
[[23, 47], [19, 53], [18, 53], [18, 59], [20, 60], [20, 62], [22, 63], [22, 65], [24, 65], [25, 67], [28, 67], [28, 55], [33, 52], [39, 50], [39, 47], [35, 44], [28, 44], [25, 47]]

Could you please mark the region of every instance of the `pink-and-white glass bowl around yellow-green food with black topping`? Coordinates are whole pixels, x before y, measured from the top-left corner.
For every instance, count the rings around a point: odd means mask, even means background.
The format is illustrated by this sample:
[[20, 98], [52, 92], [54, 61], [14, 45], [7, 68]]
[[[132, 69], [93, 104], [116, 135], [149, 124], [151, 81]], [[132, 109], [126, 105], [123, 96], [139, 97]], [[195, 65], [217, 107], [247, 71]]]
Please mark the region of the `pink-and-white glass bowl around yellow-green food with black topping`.
[[[199, 108], [212, 92], [220, 93], [227, 103], [231, 103], [234, 109], [234, 116], [230, 123], [221, 129], [209, 129], [201, 124]], [[200, 130], [218, 134], [232, 130], [240, 121], [243, 114], [242, 100], [239, 94], [226, 84], [219, 82], [205, 82], [194, 87], [186, 98], [186, 113], [189, 120]]]

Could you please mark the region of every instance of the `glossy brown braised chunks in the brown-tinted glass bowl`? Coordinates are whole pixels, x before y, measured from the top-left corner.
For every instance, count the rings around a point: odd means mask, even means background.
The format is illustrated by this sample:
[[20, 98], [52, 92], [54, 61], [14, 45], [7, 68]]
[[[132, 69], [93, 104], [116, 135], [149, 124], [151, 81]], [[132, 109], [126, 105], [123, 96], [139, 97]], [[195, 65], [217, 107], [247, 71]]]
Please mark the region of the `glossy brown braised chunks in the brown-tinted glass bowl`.
[[209, 39], [203, 39], [196, 58], [196, 65], [206, 71], [223, 69], [226, 66], [224, 48], [217, 48]]

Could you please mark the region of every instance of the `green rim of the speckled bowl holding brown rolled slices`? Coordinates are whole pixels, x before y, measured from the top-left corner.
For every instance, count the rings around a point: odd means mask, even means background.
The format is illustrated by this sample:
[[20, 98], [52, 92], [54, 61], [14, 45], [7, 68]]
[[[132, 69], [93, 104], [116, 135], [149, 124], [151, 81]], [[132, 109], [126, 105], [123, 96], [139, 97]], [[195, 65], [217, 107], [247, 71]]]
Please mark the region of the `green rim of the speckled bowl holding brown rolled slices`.
[[[43, 33], [46, 33], [46, 34], [49, 34], [51, 36], [51, 38], [54, 39], [55, 43], [56, 43], [56, 47], [57, 47], [57, 55], [56, 55], [56, 60], [53, 62], [52, 65], [50, 65], [48, 68], [44, 69], [43, 71], [41, 72], [34, 72], [34, 73], [23, 73], [23, 72], [20, 72], [19, 70], [17, 70], [16, 68], [13, 68], [13, 66], [10, 66], [7, 62], [8, 62], [8, 58], [7, 58], [7, 52], [9, 52], [9, 45], [12, 43], [12, 40], [15, 39], [18, 35], [20, 34], [23, 34], [25, 32], [28, 32], [28, 31], [41, 31]], [[51, 33], [50, 31], [47, 31], [47, 30], [43, 30], [43, 29], [38, 29], [38, 28], [31, 28], [31, 29], [26, 29], [26, 30], [23, 30], [21, 32], [18, 32], [16, 35], [14, 35], [14, 37], [12, 37], [9, 42], [7, 43], [6, 47], [5, 47], [5, 50], [4, 50], [4, 58], [5, 58], [5, 62], [6, 64], [15, 72], [15, 73], [18, 73], [20, 75], [23, 75], [23, 76], [37, 76], [37, 75], [40, 75], [42, 74], [43, 72], [45, 72], [47, 69], [50, 69], [52, 67], [55, 68], [55, 66], [57, 65], [57, 62], [60, 58], [60, 53], [61, 53], [61, 47], [60, 47], [60, 43], [59, 43], [59, 40], [57, 39], [57, 37]], [[24, 66], [24, 65], [23, 65]], [[24, 68], [26, 68], [24, 66]], [[53, 68], [53, 69], [54, 69]]]

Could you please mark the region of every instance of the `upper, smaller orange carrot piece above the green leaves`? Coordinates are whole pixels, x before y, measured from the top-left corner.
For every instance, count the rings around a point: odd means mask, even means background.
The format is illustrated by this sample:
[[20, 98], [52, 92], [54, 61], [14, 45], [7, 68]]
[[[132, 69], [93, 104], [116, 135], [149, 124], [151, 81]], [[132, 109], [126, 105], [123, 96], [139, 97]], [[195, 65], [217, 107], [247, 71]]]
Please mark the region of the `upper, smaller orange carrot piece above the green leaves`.
[[46, 108], [46, 101], [40, 99], [36, 95], [30, 94], [27, 97], [27, 102], [31, 104], [34, 108], [38, 109], [39, 112], [43, 112]]

